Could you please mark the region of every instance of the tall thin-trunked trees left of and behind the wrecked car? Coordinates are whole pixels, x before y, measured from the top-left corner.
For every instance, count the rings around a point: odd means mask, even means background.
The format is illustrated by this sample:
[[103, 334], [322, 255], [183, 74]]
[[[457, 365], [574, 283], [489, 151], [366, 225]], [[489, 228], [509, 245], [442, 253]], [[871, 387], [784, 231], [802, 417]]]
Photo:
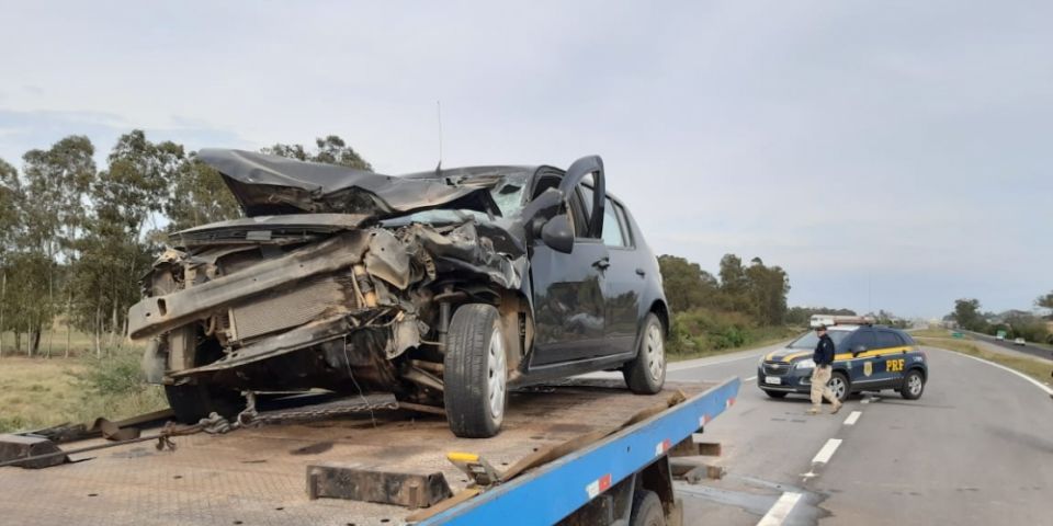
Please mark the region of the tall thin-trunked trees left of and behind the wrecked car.
[[[335, 135], [314, 147], [262, 151], [372, 170]], [[154, 142], [138, 129], [117, 139], [103, 167], [91, 140], [78, 135], [25, 152], [21, 169], [0, 159], [0, 332], [14, 333], [11, 351], [33, 356], [63, 317], [65, 342], [57, 343], [65, 354], [70, 329], [78, 329], [101, 355], [126, 333], [138, 279], [166, 236], [239, 215], [220, 175], [195, 151]]]

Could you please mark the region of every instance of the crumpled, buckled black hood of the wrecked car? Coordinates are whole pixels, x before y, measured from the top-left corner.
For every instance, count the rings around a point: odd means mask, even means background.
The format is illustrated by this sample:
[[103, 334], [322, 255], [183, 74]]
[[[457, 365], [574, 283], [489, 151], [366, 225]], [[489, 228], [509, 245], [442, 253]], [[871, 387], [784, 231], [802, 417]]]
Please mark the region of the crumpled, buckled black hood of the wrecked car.
[[249, 217], [336, 213], [382, 219], [439, 207], [500, 215], [483, 187], [395, 178], [244, 150], [206, 148], [197, 157], [223, 175]]

